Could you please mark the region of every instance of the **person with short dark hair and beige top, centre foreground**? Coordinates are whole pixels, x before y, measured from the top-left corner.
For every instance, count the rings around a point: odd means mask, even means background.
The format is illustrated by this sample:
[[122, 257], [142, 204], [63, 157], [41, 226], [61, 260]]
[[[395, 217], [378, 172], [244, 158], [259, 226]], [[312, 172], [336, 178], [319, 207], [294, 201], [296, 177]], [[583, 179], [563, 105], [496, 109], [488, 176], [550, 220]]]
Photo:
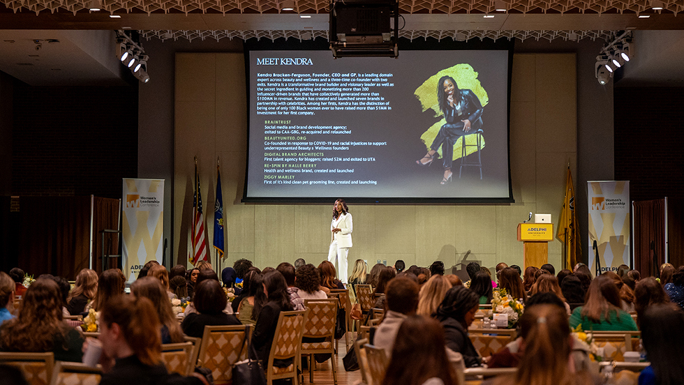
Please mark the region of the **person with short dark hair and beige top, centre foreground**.
[[[444, 279], [443, 275], [433, 275], [430, 279], [437, 277]], [[414, 315], [418, 307], [418, 284], [408, 278], [394, 278], [387, 285], [385, 298], [387, 299], [387, 312], [376, 330], [373, 345], [385, 349], [387, 358], [390, 358], [394, 338], [401, 322], [409, 315]]]

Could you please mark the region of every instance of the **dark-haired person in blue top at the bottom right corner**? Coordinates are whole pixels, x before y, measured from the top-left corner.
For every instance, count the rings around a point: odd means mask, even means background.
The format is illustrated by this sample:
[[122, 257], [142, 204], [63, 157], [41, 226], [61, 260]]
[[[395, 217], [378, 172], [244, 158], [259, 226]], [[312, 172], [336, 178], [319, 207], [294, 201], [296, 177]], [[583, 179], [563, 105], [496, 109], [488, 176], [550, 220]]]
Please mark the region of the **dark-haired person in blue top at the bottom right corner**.
[[656, 304], [639, 317], [641, 341], [646, 349], [648, 368], [641, 371], [639, 385], [675, 385], [684, 379], [681, 348], [684, 346], [684, 312]]

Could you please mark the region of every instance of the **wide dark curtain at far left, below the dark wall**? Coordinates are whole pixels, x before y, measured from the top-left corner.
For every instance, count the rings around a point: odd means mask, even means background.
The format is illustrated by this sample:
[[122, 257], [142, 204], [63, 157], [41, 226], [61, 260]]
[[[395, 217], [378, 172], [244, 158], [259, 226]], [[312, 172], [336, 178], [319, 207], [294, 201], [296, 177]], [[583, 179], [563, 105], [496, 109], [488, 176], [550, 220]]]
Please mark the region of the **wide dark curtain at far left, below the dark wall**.
[[68, 280], [89, 266], [90, 197], [21, 197], [19, 266]]

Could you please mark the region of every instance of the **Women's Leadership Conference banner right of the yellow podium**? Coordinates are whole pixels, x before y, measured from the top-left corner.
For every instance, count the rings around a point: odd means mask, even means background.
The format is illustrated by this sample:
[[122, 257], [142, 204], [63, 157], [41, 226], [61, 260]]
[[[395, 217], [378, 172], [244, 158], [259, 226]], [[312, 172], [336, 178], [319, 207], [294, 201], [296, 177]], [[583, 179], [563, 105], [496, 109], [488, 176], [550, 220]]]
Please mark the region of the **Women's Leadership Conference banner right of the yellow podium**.
[[589, 269], [596, 271], [594, 241], [601, 271], [630, 266], [630, 181], [588, 181]]

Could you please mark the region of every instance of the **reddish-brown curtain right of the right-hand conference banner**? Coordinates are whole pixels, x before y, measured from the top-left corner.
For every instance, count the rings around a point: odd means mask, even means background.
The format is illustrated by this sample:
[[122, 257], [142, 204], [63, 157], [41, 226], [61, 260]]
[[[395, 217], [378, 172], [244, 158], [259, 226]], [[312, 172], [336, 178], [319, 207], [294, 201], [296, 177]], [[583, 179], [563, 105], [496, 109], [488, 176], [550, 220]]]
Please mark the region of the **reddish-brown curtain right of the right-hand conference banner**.
[[634, 269], [642, 277], [657, 276], [664, 251], [665, 199], [634, 202]]

